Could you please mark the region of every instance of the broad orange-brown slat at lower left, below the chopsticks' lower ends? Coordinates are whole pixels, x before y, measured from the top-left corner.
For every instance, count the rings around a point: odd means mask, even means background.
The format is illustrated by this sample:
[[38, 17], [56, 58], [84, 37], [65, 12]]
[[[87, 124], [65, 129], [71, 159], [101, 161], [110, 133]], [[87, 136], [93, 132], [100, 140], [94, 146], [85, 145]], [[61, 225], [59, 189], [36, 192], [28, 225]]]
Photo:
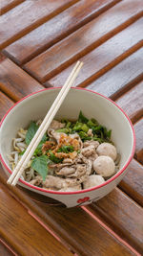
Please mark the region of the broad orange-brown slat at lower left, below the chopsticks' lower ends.
[[[20, 255], [65, 255], [72, 253], [28, 214], [0, 185], [0, 235]], [[47, 254], [48, 253], [48, 254]]]

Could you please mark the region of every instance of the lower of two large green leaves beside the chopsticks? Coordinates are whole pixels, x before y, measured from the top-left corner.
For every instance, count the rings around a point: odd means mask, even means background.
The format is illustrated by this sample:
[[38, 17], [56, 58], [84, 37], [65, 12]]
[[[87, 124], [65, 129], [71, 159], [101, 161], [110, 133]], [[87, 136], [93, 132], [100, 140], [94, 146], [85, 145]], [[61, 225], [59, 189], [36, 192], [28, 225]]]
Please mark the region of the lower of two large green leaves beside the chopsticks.
[[35, 157], [31, 162], [31, 168], [41, 175], [43, 180], [45, 180], [48, 175], [48, 156], [41, 155]]

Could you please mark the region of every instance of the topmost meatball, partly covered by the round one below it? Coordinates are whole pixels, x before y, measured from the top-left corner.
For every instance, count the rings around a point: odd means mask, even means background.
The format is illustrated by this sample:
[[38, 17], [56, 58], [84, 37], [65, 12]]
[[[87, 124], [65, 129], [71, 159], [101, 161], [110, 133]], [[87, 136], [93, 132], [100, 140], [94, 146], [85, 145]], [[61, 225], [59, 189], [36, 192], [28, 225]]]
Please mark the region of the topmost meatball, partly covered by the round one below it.
[[101, 143], [96, 149], [98, 155], [108, 155], [112, 157], [114, 161], [116, 159], [117, 153], [115, 147], [111, 143]]

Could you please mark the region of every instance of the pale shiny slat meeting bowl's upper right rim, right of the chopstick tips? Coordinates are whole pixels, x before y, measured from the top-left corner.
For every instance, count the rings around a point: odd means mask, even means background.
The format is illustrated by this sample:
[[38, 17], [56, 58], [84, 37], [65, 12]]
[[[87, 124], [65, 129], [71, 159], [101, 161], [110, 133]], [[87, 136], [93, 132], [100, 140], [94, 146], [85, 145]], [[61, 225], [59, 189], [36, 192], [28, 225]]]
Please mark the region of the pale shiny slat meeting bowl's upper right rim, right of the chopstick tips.
[[[99, 79], [93, 81], [87, 88], [115, 100], [124, 92], [128, 91], [128, 89], [132, 88], [137, 81], [143, 79], [142, 63], [143, 50], [139, 49]], [[126, 102], [124, 104], [126, 105]]]

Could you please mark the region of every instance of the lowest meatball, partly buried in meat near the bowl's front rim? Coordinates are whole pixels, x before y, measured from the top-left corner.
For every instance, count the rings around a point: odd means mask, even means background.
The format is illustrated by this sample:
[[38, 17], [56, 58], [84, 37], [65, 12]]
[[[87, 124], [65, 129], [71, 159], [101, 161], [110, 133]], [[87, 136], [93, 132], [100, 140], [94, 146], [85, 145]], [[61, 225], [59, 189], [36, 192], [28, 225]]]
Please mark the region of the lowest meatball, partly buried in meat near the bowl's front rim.
[[90, 175], [88, 178], [83, 182], [83, 188], [88, 189], [95, 186], [98, 186], [104, 182], [104, 178], [101, 175]]

